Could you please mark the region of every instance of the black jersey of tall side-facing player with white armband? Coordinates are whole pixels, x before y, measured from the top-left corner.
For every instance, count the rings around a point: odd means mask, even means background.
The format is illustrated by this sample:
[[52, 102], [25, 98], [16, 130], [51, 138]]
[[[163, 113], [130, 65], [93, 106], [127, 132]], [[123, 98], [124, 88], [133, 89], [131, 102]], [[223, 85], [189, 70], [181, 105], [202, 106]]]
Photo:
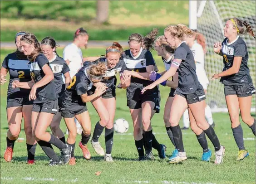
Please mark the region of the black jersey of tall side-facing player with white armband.
[[183, 94], [191, 94], [199, 87], [196, 74], [196, 63], [193, 53], [185, 42], [182, 42], [174, 52], [174, 59], [181, 59], [178, 68], [179, 83], [177, 91]]

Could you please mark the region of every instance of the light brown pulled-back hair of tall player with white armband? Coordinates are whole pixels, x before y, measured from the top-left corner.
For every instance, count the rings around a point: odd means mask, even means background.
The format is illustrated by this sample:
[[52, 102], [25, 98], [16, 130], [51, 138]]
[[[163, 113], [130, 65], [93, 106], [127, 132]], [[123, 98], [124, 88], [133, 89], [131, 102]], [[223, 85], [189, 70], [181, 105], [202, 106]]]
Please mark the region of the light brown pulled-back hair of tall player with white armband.
[[167, 28], [164, 29], [164, 32], [168, 32], [172, 37], [176, 37], [180, 40], [184, 40], [185, 36], [192, 37], [197, 36], [198, 33], [189, 29], [184, 24], [177, 24], [177, 25], [169, 25]]

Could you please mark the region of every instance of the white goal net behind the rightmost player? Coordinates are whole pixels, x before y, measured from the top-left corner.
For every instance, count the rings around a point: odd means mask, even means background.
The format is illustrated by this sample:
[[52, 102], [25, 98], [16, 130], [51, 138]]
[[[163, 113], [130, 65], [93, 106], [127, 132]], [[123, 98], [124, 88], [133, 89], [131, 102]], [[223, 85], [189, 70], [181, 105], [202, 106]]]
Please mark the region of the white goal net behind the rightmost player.
[[[214, 53], [213, 44], [222, 42], [225, 38], [223, 27], [226, 20], [237, 17], [242, 21], [251, 24], [252, 29], [256, 28], [256, 1], [255, 0], [197, 0], [197, 29], [206, 39], [207, 53], [205, 69], [207, 77], [220, 73], [224, 67], [222, 56]], [[247, 44], [249, 51], [248, 66], [251, 78], [256, 86], [256, 40], [249, 36], [240, 35]], [[212, 111], [227, 111], [224, 96], [224, 87], [219, 80], [210, 82], [207, 89], [207, 104]], [[255, 95], [252, 97], [251, 111], [255, 111]]]

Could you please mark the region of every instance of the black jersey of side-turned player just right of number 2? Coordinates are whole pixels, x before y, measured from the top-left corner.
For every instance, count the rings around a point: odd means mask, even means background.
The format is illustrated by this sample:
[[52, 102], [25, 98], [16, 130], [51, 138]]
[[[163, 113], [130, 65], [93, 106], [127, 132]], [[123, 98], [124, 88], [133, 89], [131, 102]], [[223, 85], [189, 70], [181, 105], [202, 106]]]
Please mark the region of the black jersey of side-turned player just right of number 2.
[[[39, 82], [44, 76], [44, 71], [42, 70], [43, 66], [47, 64], [49, 66], [48, 59], [44, 56], [43, 53], [40, 53], [34, 62], [31, 63], [30, 75], [34, 79], [34, 82]], [[36, 99], [34, 103], [43, 103], [56, 100], [56, 92], [54, 87], [54, 80], [50, 81], [48, 84], [37, 88], [36, 90]]]

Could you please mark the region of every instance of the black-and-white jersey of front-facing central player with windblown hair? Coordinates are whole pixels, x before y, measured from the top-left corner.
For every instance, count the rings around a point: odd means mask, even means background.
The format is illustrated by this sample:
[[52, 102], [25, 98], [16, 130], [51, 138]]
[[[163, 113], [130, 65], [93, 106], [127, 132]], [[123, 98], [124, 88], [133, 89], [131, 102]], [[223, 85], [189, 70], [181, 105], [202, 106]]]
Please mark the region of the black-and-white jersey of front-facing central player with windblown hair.
[[[138, 53], [136, 57], [133, 57], [130, 50], [124, 51], [122, 55], [124, 63], [126, 65], [126, 69], [129, 71], [146, 73], [146, 67], [153, 65], [154, 70], [158, 72], [158, 68], [156, 67], [156, 63], [153, 59], [152, 53], [148, 50], [141, 49], [140, 53]], [[146, 87], [151, 83], [153, 83], [153, 81], [143, 80], [137, 77], [131, 77], [131, 85], [126, 90], [127, 98], [139, 100], [139, 96], [143, 87]], [[148, 90], [146, 93], [151, 93], [153, 91], [158, 91], [158, 87], [155, 87], [152, 90]]]

